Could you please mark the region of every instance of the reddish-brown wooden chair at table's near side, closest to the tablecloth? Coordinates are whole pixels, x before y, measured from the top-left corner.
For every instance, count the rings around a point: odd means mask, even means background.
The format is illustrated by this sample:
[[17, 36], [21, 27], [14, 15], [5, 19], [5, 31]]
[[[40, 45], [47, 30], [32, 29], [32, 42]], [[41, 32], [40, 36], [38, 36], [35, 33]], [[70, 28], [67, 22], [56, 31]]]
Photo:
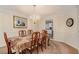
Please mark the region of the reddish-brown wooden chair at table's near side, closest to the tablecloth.
[[29, 42], [28, 45], [26, 45], [26, 49], [24, 49], [23, 51], [27, 50], [32, 54], [34, 50], [37, 50], [38, 53], [39, 36], [40, 36], [40, 32], [33, 32], [31, 42]]

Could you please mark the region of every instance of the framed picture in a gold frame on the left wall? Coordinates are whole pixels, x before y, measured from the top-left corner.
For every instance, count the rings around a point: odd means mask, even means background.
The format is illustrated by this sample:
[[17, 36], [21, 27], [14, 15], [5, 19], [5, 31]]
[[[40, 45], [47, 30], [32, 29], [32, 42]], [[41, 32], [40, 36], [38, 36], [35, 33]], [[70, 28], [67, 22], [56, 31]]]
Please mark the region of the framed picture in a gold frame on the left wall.
[[27, 28], [27, 18], [13, 16], [13, 27], [14, 28]]

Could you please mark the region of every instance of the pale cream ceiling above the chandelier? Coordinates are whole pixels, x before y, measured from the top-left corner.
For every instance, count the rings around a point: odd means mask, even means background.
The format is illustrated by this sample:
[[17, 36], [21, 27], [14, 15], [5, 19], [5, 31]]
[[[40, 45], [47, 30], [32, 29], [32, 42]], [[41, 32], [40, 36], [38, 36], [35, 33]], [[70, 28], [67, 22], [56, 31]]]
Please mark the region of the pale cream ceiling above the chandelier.
[[70, 12], [74, 7], [74, 5], [36, 5], [36, 7], [33, 5], [1, 5], [0, 9], [16, 11], [26, 15], [51, 15], [64, 13], [65, 11]]

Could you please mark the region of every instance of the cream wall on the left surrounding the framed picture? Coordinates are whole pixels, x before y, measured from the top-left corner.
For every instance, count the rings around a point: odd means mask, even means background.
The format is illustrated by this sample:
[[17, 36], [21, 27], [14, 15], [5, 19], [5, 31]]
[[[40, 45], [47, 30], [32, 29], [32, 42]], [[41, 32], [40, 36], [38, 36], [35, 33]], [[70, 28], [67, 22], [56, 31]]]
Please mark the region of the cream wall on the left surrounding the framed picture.
[[[28, 27], [27, 28], [13, 28], [13, 16], [20, 16], [24, 18], [28, 18]], [[34, 24], [32, 19], [29, 18], [28, 15], [18, 13], [16, 11], [9, 11], [0, 9], [0, 47], [5, 46], [5, 40], [3, 33], [6, 32], [8, 37], [18, 36], [18, 31], [24, 29], [33, 29], [38, 30], [39, 25]]]

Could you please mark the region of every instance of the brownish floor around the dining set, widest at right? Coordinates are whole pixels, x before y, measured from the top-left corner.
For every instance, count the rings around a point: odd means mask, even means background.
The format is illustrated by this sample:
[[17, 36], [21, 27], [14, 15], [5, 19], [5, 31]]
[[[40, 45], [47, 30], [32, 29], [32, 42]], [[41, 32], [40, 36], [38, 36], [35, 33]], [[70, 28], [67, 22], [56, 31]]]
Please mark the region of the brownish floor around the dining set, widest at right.
[[[42, 52], [39, 48], [39, 54], [78, 54], [78, 50], [64, 42], [59, 41], [50, 41], [50, 46], [48, 46], [44, 51]], [[6, 54], [6, 47], [0, 48], [0, 54]], [[36, 54], [37, 52], [34, 51], [33, 54]], [[26, 54], [29, 54], [29, 52], [26, 51]]]

